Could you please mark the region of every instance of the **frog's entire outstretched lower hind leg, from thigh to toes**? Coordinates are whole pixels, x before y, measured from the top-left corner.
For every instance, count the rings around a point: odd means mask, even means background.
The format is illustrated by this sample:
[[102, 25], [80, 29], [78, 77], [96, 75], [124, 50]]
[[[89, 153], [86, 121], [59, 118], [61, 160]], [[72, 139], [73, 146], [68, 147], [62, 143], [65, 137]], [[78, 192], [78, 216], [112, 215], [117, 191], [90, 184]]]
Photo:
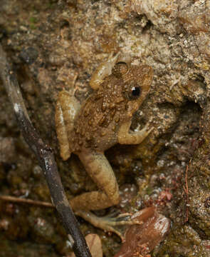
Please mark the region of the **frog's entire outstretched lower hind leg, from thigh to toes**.
[[103, 153], [85, 152], [78, 154], [78, 156], [100, 190], [76, 196], [70, 200], [70, 205], [76, 215], [83, 217], [86, 221], [92, 223], [93, 226], [116, 233], [123, 240], [124, 237], [120, 229], [114, 227], [137, 223], [136, 221], [130, 221], [130, 214], [125, 213], [125, 215], [112, 218], [107, 216], [98, 217], [90, 212], [90, 210], [113, 206], [120, 201], [117, 181], [110, 163]]

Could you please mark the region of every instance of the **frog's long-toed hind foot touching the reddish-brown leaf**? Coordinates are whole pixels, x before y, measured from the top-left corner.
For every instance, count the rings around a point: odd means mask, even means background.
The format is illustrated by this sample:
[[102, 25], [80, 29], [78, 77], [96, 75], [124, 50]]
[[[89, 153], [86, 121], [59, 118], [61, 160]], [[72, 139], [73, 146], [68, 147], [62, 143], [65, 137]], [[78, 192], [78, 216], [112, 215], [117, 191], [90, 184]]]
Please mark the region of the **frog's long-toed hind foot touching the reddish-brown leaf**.
[[[123, 229], [120, 229], [120, 226], [130, 226], [134, 224], [140, 224], [137, 220], [132, 220], [131, 213], [122, 213], [116, 217], [112, 217], [112, 214], [109, 216], [98, 217], [95, 216], [90, 211], [75, 211], [75, 215], [78, 215], [88, 221], [93, 226], [101, 228], [104, 231], [116, 233], [117, 236], [120, 236], [122, 242], [125, 241], [125, 236]], [[118, 227], [119, 226], [119, 227]], [[125, 229], [124, 229], [125, 230]]]

